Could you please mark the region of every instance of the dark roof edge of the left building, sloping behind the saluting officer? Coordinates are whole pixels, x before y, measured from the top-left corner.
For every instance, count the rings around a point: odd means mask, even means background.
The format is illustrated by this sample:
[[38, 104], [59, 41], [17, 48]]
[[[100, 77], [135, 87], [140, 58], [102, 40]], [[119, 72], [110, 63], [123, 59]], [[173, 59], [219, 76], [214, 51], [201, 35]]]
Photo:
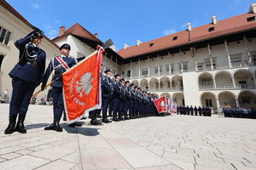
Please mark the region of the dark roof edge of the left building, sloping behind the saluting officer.
[[[11, 14], [14, 14], [19, 20], [24, 22], [27, 26], [31, 27], [33, 30], [39, 30], [36, 26], [32, 26], [32, 24], [29, 21], [27, 21], [20, 13], [18, 13], [18, 11], [15, 10], [15, 8], [9, 5], [9, 3], [7, 3], [5, 0], [0, 0], [0, 5], [3, 6], [3, 8], [6, 8]], [[44, 35], [44, 38], [47, 39], [47, 41], [49, 41], [50, 43], [52, 43], [56, 48], [59, 48], [59, 46], [57, 46], [55, 42], [51, 41], [45, 35]]]

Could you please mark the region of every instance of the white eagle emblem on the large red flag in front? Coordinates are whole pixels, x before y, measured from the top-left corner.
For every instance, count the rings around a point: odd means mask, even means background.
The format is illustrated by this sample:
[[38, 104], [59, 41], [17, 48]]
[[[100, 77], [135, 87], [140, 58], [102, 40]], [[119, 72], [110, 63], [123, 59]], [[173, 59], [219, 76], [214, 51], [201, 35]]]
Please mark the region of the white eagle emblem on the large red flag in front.
[[94, 77], [91, 77], [91, 74], [91, 72], [87, 72], [82, 77], [80, 77], [80, 81], [77, 81], [76, 90], [80, 97], [82, 97], [83, 94], [90, 94], [90, 90], [93, 88], [91, 82], [93, 82]]

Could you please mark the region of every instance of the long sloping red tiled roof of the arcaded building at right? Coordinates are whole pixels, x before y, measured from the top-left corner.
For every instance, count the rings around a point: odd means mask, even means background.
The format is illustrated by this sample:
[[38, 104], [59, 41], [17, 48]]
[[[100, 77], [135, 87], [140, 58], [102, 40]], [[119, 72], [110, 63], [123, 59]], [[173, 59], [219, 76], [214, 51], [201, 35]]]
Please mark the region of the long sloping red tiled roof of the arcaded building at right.
[[[124, 59], [150, 54], [167, 48], [175, 48], [189, 43], [201, 42], [207, 39], [222, 37], [236, 32], [256, 29], [256, 20], [247, 21], [247, 18], [255, 17], [253, 13], [237, 15], [225, 20], [218, 20], [216, 25], [212, 23], [192, 28], [192, 31], [180, 31], [166, 37], [160, 37], [140, 45], [120, 49], [118, 54]], [[209, 28], [214, 27], [214, 31]], [[176, 40], [175, 37], [177, 37]], [[174, 39], [173, 39], [174, 38]], [[190, 41], [189, 41], [190, 40]]]

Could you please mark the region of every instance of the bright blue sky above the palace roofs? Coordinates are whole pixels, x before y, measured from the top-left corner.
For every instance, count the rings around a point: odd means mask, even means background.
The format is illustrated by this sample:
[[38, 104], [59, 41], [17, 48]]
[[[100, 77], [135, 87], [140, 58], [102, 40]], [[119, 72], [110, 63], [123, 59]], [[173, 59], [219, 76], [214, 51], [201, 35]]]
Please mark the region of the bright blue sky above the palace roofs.
[[248, 12], [256, 0], [7, 0], [26, 20], [56, 37], [61, 26], [75, 23], [91, 33], [99, 33], [102, 42], [111, 38], [117, 49], [148, 42], [177, 31], [202, 26]]

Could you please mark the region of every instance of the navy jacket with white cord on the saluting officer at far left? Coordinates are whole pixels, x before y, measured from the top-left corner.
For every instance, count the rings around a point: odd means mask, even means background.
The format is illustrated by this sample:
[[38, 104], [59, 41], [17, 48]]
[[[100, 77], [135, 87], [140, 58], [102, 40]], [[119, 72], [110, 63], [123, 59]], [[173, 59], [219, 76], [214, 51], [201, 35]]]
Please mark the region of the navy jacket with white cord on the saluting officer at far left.
[[24, 37], [15, 42], [16, 48], [20, 50], [19, 62], [9, 72], [9, 76], [39, 85], [44, 76], [46, 54], [30, 41], [31, 37]]

